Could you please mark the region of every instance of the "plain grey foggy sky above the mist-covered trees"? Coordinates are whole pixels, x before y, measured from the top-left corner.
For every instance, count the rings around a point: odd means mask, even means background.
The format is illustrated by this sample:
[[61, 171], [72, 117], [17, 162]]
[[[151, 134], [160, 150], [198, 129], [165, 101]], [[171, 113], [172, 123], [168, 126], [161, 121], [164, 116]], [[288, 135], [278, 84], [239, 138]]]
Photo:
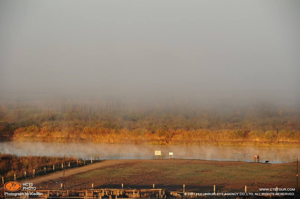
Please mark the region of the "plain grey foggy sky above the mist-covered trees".
[[0, 0], [0, 27], [5, 91], [300, 97], [298, 0]]

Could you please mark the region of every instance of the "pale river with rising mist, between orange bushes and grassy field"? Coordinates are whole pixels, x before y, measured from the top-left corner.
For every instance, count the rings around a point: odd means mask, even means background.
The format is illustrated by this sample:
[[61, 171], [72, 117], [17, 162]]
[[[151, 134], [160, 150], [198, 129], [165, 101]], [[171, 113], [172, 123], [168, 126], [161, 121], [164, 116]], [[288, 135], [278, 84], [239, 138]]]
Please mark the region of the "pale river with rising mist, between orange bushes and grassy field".
[[[161, 156], [155, 155], [161, 151]], [[203, 145], [134, 145], [106, 143], [61, 142], [0, 142], [0, 152], [7, 154], [40, 156], [75, 156], [86, 160], [95, 159], [205, 159], [217, 161], [253, 162], [259, 155], [260, 162], [287, 163], [296, 161], [300, 148], [279, 147], [233, 147]], [[172, 156], [170, 156], [172, 158]], [[98, 159], [98, 158], [97, 158]]]

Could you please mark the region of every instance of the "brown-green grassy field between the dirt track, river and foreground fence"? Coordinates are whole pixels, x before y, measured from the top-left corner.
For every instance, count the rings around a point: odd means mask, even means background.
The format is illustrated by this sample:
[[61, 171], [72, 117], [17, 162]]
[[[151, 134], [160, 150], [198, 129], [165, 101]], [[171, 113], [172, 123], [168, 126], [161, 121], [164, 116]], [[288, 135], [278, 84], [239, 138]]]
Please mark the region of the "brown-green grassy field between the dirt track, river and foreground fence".
[[[104, 166], [109, 163], [109, 166]], [[121, 188], [167, 189], [185, 192], [262, 192], [260, 188], [296, 190], [296, 162], [265, 164], [240, 161], [191, 159], [104, 160], [92, 170], [78, 171], [65, 179], [67, 189]], [[80, 170], [80, 169], [79, 169]], [[58, 189], [61, 179], [43, 182], [42, 188]], [[272, 191], [274, 192], [274, 191]]]

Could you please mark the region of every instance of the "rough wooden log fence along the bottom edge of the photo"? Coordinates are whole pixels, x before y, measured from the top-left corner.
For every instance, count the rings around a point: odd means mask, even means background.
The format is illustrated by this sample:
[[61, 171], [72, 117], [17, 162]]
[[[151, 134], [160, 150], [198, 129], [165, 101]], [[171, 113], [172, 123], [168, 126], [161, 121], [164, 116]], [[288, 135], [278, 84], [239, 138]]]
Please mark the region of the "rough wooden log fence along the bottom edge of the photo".
[[[30, 193], [42, 193], [38, 198], [47, 199], [122, 199], [122, 198], [149, 198], [149, 199], [167, 199], [167, 198], [202, 198], [202, 197], [216, 197], [221, 196], [219, 190], [216, 190], [216, 186], [207, 187], [206, 190], [197, 190], [197, 192], [190, 192], [189, 190], [179, 191], [167, 191], [165, 189], [84, 189], [84, 190], [21, 190], [26, 191], [27, 195], [21, 195], [20, 197], [2, 195], [1, 198], [4, 199], [34, 199], [36, 196], [30, 196]], [[277, 187], [276, 187], [277, 189]], [[247, 193], [247, 186], [244, 189], [232, 190], [231, 192], [236, 193]], [[190, 193], [187, 195], [187, 193]], [[193, 194], [194, 193], [194, 194]], [[221, 193], [221, 192], [220, 192]], [[228, 192], [225, 192], [228, 193]], [[274, 191], [270, 192], [274, 193]], [[277, 190], [276, 190], [277, 193]], [[295, 193], [295, 192], [294, 192]]]

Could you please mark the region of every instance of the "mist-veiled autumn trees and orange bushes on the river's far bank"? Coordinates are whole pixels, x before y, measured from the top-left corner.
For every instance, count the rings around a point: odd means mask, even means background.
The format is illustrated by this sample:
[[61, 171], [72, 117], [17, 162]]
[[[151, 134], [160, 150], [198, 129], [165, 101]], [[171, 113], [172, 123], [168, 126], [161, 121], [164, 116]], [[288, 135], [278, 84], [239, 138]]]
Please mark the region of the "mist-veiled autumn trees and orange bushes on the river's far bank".
[[300, 110], [193, 98], [0, 101], [1, 141], [300, 146]]

